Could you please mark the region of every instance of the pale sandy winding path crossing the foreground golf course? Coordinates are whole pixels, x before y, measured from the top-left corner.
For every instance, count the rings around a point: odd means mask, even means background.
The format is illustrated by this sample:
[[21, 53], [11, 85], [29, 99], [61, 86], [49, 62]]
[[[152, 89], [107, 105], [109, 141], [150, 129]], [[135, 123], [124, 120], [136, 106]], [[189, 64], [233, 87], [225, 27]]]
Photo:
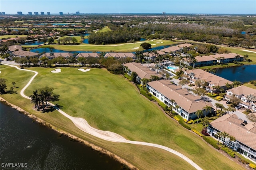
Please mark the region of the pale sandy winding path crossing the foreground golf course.
[[[2, 63], [2, 64], [4, 64], [4, 63]], [[22, 95], [22, 97], [24, 97], [26, 99], [30, 99], [28, 96], [24, 95], [24, 91], [30, 85], [30, 83], [33, 81], [33, 79], [36, 77], [36, 75], [38, 75], [38, 72], [32, 71], [32, 70], [20, 69], [19, 67], [15, 66], [15, 65], [9, 65], [9, 64], [4, 64], [4, 65], [15, 67], [18, 70], [30, 71], [30, 72], [34, 72], [35, 73], [35, 75], [30, 79], [28, 84], [20, 91], [20, 95]], [[101, 138], [101, 139], [104, 139], [104, 140], [107, 140], [107, 141], [110, 141], [110, 142], [122, 142], [122, 143], [130, 143], [130, 144], [140, 144], [140, 145], [145, 145], [145, 146], [152, 146], [152, 147], [156, 147], [156, 148], [161, 148], [163, 150], [166, 150], [168, 152], [171, 152], [171, 153], [179, 156], [180, 158], [182, 158], [183, 160], [185, 160], [186, 162], [191, 164], [197, 170], [202, 170], [202, 168], [200, 168], [200, 166], [198, 166], [195, 162], [190, 160], [190, 158], [188, 158], [187, 156], [185, 156], [184, 154], [181, 154], [180, 152], [178, 152], [176, 150], [173, 150], [171, 148], [168, 148], [166, 146], [162, 146], [162, 145], [159, 145], [159, 144], [127, 140], [124, 137], [122, 137], [121, 135], [116, 134], [114, 132], [104, 131], [104, 130], [99, 130], [99, 129], [93, 128], [93, 127], [91, 127], [88, 124], [88, 122], [85, 119], [82, 119], [80, 117], [72, 117], [72, 116], [68, 115], [67, 113], [65, 113], [64, 111], [60, 110], [54, 104], [49, 103], [49, 102], [48, 102], [48, 104], [51, 105], [52, 107], [54, 107], [62, 115], [64, 115], [68, 119], [70, 119], [74, 123], [74, 125], [76, 125], [76, 127], [78, 127], [80, 130], [82, 130], [82, 131], [84, 131], [84, 132], [86, 132], [88, 134], [91, 134], [93, 136], [96, 136], [98, 138]]]

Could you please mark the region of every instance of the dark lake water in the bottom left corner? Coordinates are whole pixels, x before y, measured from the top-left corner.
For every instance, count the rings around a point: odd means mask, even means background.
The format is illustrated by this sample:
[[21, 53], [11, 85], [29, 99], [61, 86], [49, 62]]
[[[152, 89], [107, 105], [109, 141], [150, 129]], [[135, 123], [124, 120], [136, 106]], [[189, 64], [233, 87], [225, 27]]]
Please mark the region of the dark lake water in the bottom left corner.
[[[0, 103], [2, 170], [122, 170], [122, 164]], [[2, 163], [23, 163], [4, 168]]]

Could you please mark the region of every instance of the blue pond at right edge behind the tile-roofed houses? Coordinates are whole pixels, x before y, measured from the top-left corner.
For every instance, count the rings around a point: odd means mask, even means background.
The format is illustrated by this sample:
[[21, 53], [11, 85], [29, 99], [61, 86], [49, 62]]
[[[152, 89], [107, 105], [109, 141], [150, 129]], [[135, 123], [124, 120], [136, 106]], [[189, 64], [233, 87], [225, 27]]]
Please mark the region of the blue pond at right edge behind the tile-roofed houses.
[[256, 80], [256, 65], [242, 65], [238, 67], [218, 68], [216, 75], [230, 81], [241, 81], [242, 83]]

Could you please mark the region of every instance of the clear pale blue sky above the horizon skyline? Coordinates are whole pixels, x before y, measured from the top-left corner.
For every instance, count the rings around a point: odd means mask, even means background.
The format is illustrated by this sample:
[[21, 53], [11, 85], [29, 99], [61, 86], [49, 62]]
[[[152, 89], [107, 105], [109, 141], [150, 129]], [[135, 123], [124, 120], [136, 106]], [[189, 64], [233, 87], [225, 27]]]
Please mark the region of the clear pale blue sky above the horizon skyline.
[[0, 0], [0, 12], [256, 14], [256, 0]]

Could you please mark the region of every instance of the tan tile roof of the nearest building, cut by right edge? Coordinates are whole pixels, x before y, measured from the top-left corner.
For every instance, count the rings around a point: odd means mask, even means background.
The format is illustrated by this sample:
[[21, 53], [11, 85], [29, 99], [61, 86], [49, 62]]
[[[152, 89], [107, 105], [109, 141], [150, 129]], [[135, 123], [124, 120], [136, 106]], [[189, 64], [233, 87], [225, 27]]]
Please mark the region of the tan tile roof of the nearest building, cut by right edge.
[[[256, 150], [256, 133], [254, 131], [255, 123], [251, 123], [242, 126], [240, 122], [242, 120], [238, 119], [235, 114], [226, 114], [222, 117], [212, 121], [210, 125], [212, 127], [220, 130], [221, 132], [227, 132], [229, 135], [234, 136], [239, 142], [249, 146]], [[250, 129], [248, 129], [250, 127]]]

